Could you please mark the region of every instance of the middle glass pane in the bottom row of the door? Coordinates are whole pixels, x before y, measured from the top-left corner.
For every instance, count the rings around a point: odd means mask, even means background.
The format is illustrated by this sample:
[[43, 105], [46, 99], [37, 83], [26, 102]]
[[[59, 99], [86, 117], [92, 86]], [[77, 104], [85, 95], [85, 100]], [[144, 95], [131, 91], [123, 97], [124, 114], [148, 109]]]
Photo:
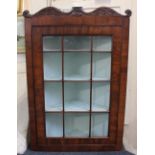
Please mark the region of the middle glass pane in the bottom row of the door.
[[65, 137], [88, 137], [89, 113], [65, 113]]

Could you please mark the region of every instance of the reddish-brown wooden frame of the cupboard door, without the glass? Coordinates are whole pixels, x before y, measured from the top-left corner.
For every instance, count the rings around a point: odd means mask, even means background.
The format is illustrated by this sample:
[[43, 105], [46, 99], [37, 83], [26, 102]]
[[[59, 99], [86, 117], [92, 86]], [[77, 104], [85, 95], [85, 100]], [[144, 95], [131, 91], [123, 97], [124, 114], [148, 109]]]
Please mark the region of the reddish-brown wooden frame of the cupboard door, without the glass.
[[[69, 31], [69, 28], [66, 28], [66, 32], [63, 31], [61, 35], [79, 35], [79, 32], [83, 35], [83, 29], [81, 27], [74, 27], [74, 31]], [[96, 143], [115, 143], [116, 141], [116, 123], [117, 123], [117, 112], [118, 112], [118, 102], [119, 102], [119, 77], [120, 77], [120, 53], [121, 53], [121, 29], [120, 28], [95, 28], [90, 27], [92, 32], [84, 32], [87, 35], [110, 35], [112, 36], [113, 41], [113, 51], [111, 53], [112, 56], [112, 75], [111, 75], [111, 103], [110, 103], [110, 110], [109, 110], [109, 136], [107, 138], [46, 138], [45, 134], [45, 117], [44, 117], [44, 79], [43, 79], [43, 51], [42, 51], [42, 36], [46, 35], [59, 35], [60, 32], [64, 29], [64, 27], [56, 28], [33, 28], [32, 33], [32, 43], [35, 45], [33, 46], [33, 60], [34, 60], [34, 92], [35, 92], [35, 105], [36, 105], [36, 126], [37, 126], [37, 140], [39, 144], [54, 144], [55, 139], [57, 139], [57, 143], [66, 144], [67, 140], [70, 140], [70, 144], [76, 141], [77, 144], [91, 144], [95, 140]], [[73, 27], [72, 27], [73, 29]], [[88, 28], [89, 29], [89, 28]], [[98, 29], [98, 32], [95, 30]], [[94, 33], [95, 32], [95, 33]], [[81, 142], [84, 139], [85, 142]], [[92, 140], [93, 139], [93, 140]]]

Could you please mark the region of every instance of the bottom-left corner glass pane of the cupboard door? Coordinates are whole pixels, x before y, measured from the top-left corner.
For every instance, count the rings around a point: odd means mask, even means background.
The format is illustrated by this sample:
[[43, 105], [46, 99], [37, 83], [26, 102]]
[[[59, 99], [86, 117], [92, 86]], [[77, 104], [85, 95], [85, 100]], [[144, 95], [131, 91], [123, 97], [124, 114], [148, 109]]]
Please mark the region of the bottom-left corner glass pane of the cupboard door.
[[61, 113], [46, 113], [46, 137], [62, 137], [63, 122]]

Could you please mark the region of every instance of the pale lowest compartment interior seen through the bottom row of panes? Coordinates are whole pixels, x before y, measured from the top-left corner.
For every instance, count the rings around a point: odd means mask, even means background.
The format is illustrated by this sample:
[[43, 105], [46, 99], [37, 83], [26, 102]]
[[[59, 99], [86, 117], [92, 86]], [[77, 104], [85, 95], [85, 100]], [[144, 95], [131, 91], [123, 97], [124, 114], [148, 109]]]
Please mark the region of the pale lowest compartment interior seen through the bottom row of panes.
[[[108, 114], [92, 113], [91, 137], [108, 136]], [[89, 113], [65, 113], [65, 137], [89, 136]], [[46, 136], [62, 137], [63, 122], [61, 113], [46, 113]]]

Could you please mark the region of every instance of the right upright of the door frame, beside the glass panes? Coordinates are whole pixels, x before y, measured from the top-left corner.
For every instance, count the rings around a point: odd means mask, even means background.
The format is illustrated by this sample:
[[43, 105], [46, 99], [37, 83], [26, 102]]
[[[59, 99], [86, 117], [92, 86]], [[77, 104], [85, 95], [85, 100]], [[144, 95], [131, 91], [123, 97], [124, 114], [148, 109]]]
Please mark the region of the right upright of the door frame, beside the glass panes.
[[111, 66], [111, 90], [110, 90], [110, 141], [116, 143], [119, 89], [120, 89], [120, 57], [121, 57], [121, 31], [113, 32], [113, 52]]

